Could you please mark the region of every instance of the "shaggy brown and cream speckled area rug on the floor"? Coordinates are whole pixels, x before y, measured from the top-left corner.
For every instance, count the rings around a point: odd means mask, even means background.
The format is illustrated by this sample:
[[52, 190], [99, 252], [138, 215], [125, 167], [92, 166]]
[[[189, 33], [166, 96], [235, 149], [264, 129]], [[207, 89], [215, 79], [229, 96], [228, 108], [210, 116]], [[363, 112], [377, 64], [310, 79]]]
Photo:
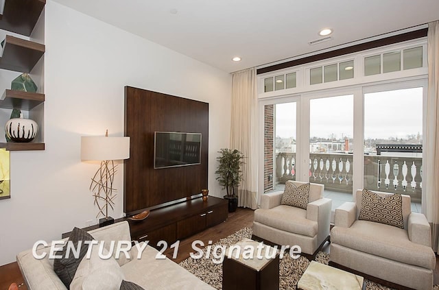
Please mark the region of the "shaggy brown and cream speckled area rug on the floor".
[[[212, 245], [225, 245], [226, 247], [233, 245], [244, 238], [250, 239], [252, 237], [251, 228], [242, 228], [241, 230], [231, 234], [230, 236], [220, 239], [217, 243]], [[206, 249], [204, 249], [203, 257], [206, 256]], [[324, 252], [319, 252], [316, 256], [316, 261], [328, 265], [329, 254]], [[212, 258], [187, 258], [186, 260], [180, 262], [181, 267], [187, 269], [192, 274], [211, 285], [215, 289], [222, 289], [222, 264], [213, 263]], [[284, 255], [281, 263], [279, 265], [279, 289], [283, 290], [294, 290], [296, 289], [298, 280], [302, 276], [305, 269], [307, 269], [309, 261], [305, 257], [300, 257], [298, 259], [293, 259], [289, 255]], [[388, 287], [384, 287], [375, 282], [366, 280], [367, 290], [390, 290]], [[439, 290], [439, 286], [435, 285], [434, 290]]]

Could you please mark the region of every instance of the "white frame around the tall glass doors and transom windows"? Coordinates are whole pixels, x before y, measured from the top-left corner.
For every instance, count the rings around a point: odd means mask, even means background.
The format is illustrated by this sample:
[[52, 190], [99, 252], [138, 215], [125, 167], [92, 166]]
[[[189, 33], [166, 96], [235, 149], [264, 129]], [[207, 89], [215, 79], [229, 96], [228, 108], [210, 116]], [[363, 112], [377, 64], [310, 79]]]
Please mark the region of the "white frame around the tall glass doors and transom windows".
[[[423, 47], [423, 67], [418, 69], [403, 70], [403, 62], [401, 60], [401, 71], [391, 73], [380, 73], [377, 75], [364, 76], [364, 58], [375, 56], [390, 51], [402, 51], [413, 47]], [[309, 69], [314, 67], [324, 67], [325, 65], [346, 62], [354, 60], [354, 77], [348, 80], [338, 80], [335, 82], [327, 82], [322, 84], [309, 84]], [[381, 57], [382, 62], [382, 57]], [[382, 72], [381, 65], [381, 72]], [[287, 74], [296, 72], [296, 88], [274, 90], [270, 93], [263, 92], [263, 80], [265, 77]], [[340, 72], [339, 72], [340, 73]], [[347, 55], [329, 60], [313, 62], [311, 64], [302, 65], [270, 73], [258, 75], [259, 77], [259, 146], [262, 148], [259, 154], [259, 174], [263, 176], [264, 171], [264, 154], [263, 154], [263, 136], [264, 136], [264, 106], [270, 104], [282, 104], [290, 101], [296, 101], [296, 180], [309, 181], [309, 118], [310, 118], [310, 100], [322, 97], [335, 97], [340, 95], [354, 95], [353, 102], [353, 193], [356, 189], [362, 189], [364, 184], [364, 94], [383, 90], [398, 90], [404, 88], [423, 87], [423, 136], [426, 132], [426, 104], [427, 104], [427, 40], [409, 40], [396, 45], [387, 47], [379, 47], [370, 49], [361, 53]], [[300, 80], [300, 81], [299, 81]], [[262, 84], [262, 86], [261, 86]], [[303, 121], [308, 120], [308, 121]], [[423, 138], [425, 142], [425, 138]], [[425, 160], [425, 156], [423, 154]], [[274, 172], [276, 170], [274, 162]], [[427, 174], [423, 168], [423, 175]], [[263, 178], [259, 178], [259, 195], [263, 194]], [[273, 178], [274, 180], [274, 178]], [[353, 195], [355, 198], [355, 195]], [[422, 193], [422, 208], [425, 212], [425, 191]]]

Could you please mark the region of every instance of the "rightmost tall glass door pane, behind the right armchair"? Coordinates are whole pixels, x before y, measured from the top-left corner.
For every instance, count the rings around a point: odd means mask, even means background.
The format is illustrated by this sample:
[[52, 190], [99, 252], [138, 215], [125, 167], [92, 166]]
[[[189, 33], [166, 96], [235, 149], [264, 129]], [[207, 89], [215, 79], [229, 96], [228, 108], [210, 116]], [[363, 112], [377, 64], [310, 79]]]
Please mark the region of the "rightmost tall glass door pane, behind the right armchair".
[[423, 87], [364, 94], [364, 188], [410, 195], [421, 212]]

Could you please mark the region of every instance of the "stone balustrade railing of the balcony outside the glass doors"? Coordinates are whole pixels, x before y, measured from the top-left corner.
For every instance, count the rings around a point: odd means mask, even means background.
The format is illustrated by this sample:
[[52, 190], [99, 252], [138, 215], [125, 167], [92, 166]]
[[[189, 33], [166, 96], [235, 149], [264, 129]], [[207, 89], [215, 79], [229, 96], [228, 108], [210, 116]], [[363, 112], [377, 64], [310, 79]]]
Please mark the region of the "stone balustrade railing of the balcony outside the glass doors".
[[[309, 154], [309, 182], [324, 184], [325, 189], [352, 193], [353, 154]], [[276, 153], [276, 182], [296, 180], [296, 153]], [[364, 188], [410, 195], [420, 202], [422, 158], [364, 156]]]

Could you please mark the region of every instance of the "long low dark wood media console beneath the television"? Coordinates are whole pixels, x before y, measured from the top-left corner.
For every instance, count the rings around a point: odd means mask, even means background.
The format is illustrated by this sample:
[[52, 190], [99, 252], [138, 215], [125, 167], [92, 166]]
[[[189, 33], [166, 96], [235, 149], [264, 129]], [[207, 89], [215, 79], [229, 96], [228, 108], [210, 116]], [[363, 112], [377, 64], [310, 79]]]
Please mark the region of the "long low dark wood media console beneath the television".
[[[168, 245], [177, 240], [190, 237], [206, 228], [215, 226], [228, 217], [228, 202], [222, 198], [209, 196], [206, 202], [201, 197], [180, 202], [171, 206], [151, 210], [150, 216], [143, 221], [132, 221], [123, 217], [115, 222], [128, 221], [133, 241], [149, 241], [148, 245], [158, 247], [158, 241]], [[93, 230], [99, 225], [84, 228]], [[70, 232], [62, 234], [62, 239]]]

